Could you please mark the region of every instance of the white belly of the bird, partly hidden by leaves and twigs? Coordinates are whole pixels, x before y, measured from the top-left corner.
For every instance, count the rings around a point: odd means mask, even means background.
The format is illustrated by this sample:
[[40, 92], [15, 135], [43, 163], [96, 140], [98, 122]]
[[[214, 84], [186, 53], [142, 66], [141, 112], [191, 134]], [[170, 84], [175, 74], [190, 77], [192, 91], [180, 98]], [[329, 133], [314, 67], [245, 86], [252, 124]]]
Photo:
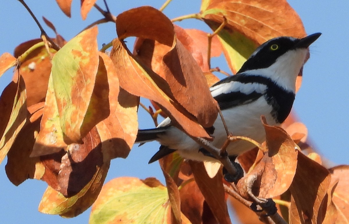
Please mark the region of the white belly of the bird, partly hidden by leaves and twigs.
[[[260, 116], [264, 115], [269, 125], [276, 125], [274, 118], [270, 115], [271, 111], [272, 106], [267, 104], [264, 97], [260, 97], [253, 103], [233, 107], [222, 111], [222, 113], [228, 130], [233, 136], [245, 136], [262, 143], [265, 141], [265, 130]], [[214, 123], [214, 127], [212, 144], [220, 148], [227, 139], [227, 134], [219, 115]], [[161, 136], [158, 141], [170, 149], [178, 150], [178, 153], [186, 159], [212, 160], [210, 157], [199, 153], [200, 145], [175, 127], [166, 132], [166, 135]], [[247, 141], [237, 140], [229, 144], [227, 152], [229, 155], [240, 155], [254, 147], [253, 144]]]

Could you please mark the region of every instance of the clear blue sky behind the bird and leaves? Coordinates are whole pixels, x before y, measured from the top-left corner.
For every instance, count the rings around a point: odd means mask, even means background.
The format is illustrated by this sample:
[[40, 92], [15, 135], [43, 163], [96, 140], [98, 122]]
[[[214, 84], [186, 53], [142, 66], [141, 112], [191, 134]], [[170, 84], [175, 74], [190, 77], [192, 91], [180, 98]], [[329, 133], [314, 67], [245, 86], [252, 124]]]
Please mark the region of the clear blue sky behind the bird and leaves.
[[[27, 1], [29, 7], [43, 21], [45, 16], [58, 32], [69, 40], [85, 26], [101, 15], [94, 9], [87, 21], [82, 21], [79, 11], [80, 1], [74, 0], [72, 18], [66, 17], [54, 0]], [[35, 2], [35, 3], [34, 3]], [[159, 8], [164, 1], [121, 1], [109, 0], [109, 7], [114, 15], [129, 8], [148, 4]], [[123, 1], [125, 2], [125, 1]], [[174, 18], [180, 15], [196, 13], [200, 9], [199, 0], [173, 0], [164, 13]], [[294, 109], [309, 130], [309, 137], [318, 152], [334, 165], [349, 163], [349, 15], [348, 1], [288, 1], [302, 18], [306, 32], [322, 32], [321, 37], [311, 46], [311, 58], [304, 67], [303, 83], [296, 95]], [[316, 3], [315, 3], [316, 2]], [[97, 3], [103, 6], [103, 1]], [[209, 31], [201, 21], [190, 19], [177, 23], [185, 28], [198, 28]], [[44, 26], [46, 27], [46, 26]], [[39, 38], [40, 31], [28, 12], [18, 1], [7, 1], [0, 7], [0, 54], [13, 53], [20, 43]], [[46, 29], [49, 35], [53, 32]], [[99, 26], [98, 45], [110, 42], [116, 37], [112, 23]], [[217, 62], [217, 61], [214, 61]], [[213, 64], [213, 66], [216, 66]], [[221, 69], [225, 69], [221, 67]], [[228, 70], [227, 68], [225, 70]], [[11, 72], [0, 78], [0, 91], [9, 83]], [[140, 109], [140, 128], [153, 127], [149, 115]], [[134, 147], [127, 159], [114, 159], [106, 181], [119, 176], [146, 178], [155, 176], [163, 181], [157, 163], [148, 165], [148, 160], [157, 151], [157, 143], [148, 143]], [[0, 165], [0, 216], [2, 223], [87, 223], [90, 209], [82, 215], [63, 219], [59, 216], [41, 214], [37, 207], [46, 183], [36, 180], [25, 181], [16, 187], [10, 183], [5, 173], [6, 159]]]

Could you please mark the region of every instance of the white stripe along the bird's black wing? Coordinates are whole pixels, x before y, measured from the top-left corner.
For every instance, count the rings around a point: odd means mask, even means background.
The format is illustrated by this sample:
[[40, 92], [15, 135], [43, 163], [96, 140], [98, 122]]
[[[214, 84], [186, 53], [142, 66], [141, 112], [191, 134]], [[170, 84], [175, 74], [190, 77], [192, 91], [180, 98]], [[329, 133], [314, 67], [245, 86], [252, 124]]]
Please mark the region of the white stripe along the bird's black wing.
[[253, 92], [265, 93], [267, 86], [258, 82], [253, 83], [242, 83], [238, 81], [222, 83], [218, 86], [211, 87], [211, 94], [213, 97], [220, 94], [227, 94], [232, 92], [240, 92], [245, 95], [251, 94]]

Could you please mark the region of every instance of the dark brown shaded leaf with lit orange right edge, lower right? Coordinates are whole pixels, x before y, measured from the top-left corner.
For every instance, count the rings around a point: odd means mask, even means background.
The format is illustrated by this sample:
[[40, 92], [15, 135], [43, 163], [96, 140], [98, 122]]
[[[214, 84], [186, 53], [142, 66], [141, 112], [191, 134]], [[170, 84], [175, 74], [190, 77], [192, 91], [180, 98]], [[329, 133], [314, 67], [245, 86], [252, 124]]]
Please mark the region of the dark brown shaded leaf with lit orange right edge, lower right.
[[290, 186], [292, 194], [290, 223], [321, 223], [325, 213], [320, 210], [327, 194], [331, 176], [319, 163], [298, 153], [296, 175]]

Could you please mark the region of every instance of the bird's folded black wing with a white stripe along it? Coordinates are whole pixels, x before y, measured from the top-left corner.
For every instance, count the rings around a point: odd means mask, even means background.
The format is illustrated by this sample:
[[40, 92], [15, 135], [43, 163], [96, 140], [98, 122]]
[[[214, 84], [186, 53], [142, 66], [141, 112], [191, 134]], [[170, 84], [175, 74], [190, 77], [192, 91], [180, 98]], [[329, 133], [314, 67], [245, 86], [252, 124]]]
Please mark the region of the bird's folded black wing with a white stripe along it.
[[265, 94], [267, 83], [255, 81], [253, 78], [253, 76], [241, 73], [215, 83], [210, 90], [220, 109], [250, 103]]

